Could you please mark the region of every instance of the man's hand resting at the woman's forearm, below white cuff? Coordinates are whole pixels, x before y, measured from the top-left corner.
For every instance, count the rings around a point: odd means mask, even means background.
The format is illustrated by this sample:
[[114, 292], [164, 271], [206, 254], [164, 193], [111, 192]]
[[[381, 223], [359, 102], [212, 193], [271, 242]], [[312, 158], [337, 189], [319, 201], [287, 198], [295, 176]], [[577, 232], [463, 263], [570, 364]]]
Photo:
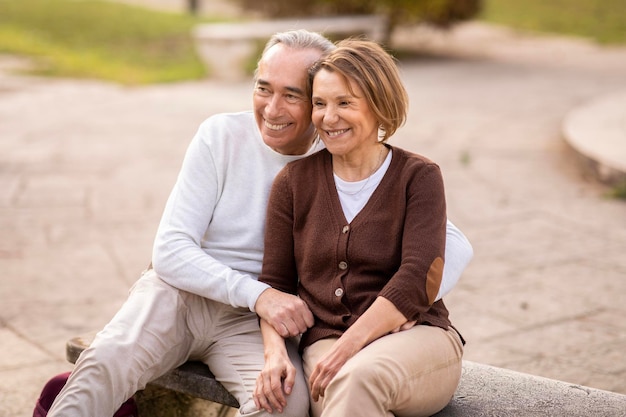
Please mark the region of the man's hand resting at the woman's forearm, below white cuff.
[[284, 338], [302, 334], [313, 326], [313, 313], [304, 301], [274, 288], [261, 293], [254, 309]]

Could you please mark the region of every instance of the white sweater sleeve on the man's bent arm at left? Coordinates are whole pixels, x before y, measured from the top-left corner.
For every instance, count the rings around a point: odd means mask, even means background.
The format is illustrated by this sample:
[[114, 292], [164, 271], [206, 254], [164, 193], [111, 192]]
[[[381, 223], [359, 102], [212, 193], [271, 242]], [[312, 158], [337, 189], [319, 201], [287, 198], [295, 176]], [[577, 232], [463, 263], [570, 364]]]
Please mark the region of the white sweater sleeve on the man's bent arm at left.
[[[201, 247], [221, 192], [206, 140], [210, 134], [205, 122], [185, 154], [159, 224], [152, 263], [157, 275], [176, 288], [254, 311], [258, 296], [268, 286], [230, 268]], [[252, 221], [263, 221], [262, 215]]]

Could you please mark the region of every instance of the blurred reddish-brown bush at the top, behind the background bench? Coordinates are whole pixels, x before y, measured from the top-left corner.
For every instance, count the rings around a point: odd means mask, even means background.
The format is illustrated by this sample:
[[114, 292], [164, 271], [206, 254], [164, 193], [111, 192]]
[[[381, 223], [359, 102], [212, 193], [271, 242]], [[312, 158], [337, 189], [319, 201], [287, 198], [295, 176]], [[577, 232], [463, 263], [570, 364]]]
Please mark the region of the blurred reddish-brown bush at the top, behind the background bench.
[[[399, 24], [428, 23], [448, 27], [476, 16], [482, 0], [233, 0], [245, 10], [267, 17], [382, 14], [388, 35]], [[389, 38], [389, 36], [388, 36]]]

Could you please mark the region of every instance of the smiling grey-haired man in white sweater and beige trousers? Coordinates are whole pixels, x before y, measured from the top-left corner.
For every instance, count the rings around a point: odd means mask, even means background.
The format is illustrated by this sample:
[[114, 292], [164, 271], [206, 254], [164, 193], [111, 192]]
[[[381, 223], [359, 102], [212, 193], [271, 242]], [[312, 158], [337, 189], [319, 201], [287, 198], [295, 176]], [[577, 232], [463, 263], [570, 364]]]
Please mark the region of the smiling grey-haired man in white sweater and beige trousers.
[[[137, 390], [187, 360], [206, 363], [239, 401], [242, 416], [266, 416], [252, 394], [263, 369], [258, 316], [283, 337], [313, 324], [298, 297], [257, 281], [265, 210], [276, 173], [320, 150], [311, 124], [307, 70], [334, 45], [303, 30], [279, 33], [258, 63], [253, 112], [218, 114], [199, 127], [155, 238], [153, 269], [76, 363], [50, 417], [110, 417]], [[472, 257], [448, 226], [444, 281]], [[257, 316], [258, 314], [258, 316]], [[294, 363], [300, 363], [295, 344]], [[301, 368], [280, 412], [308, 414]]]

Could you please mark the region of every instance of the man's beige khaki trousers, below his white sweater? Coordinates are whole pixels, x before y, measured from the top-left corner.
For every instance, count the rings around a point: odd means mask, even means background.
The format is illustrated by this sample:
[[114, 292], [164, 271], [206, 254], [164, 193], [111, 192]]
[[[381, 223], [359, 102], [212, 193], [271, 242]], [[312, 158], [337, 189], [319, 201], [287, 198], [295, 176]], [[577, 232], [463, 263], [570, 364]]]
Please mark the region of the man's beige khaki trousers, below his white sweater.
[[[298, 368], [297, 348], [288, 345]], [[264, 364], [256, 314], [177, 290], [150, 270], [81, 354], [48, 416], [111, 417], [148, 382], [189, 359], [209, 366], [241, 404], [241, 415], [268, 415], [252, 400]], [[308, 398], [306, 382], [299, 378], [283, 415], [306, 416]]]

